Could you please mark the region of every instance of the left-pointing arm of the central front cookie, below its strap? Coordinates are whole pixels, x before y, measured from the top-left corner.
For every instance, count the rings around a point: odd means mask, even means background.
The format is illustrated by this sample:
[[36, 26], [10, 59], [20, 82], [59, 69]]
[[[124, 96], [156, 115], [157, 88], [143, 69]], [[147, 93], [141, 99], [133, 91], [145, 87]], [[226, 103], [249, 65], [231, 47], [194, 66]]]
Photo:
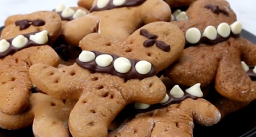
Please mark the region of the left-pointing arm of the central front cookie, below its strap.
[[85, 75], [88, 74], [79, 68], [76, 64], [59, 69], [35, 64], [30, 67], [29, 75], [32, 83], [49, 95], [56, 98], [78, 99], [82, 90], [80, 85], [83, 85], [81, 83], [85, 82], [83, 79], [87, 78]]

